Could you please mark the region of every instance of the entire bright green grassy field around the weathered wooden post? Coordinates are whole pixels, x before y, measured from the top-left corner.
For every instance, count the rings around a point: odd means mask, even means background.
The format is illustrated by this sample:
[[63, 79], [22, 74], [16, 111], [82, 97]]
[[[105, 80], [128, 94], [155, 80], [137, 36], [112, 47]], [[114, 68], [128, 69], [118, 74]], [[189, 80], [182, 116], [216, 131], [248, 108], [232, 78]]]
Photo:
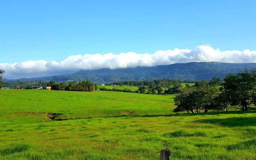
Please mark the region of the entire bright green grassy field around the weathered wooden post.
[[256, 111], [175, 114], [173, 97], [2, 89], [0, 159], [256, 159]]

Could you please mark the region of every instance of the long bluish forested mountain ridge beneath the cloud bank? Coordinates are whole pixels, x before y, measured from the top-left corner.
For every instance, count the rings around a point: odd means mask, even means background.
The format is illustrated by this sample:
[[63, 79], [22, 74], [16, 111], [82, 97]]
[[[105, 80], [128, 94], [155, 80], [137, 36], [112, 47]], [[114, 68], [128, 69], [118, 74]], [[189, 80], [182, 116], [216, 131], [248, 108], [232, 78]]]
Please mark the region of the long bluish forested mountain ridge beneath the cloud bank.
[[215, 76], [224, 78], [229, 73], [236, 74], [245, 67], [248, 69], [256, 68], [256, 63], [191, 62], [153, 67], [119, 68], [113, 70], [104, 68], [98, 70], [80, 70], [76, 73], [67, 75], [23, 78], [19, 80], [90, 80], [96, 83], [154, 79], [209, 80]]

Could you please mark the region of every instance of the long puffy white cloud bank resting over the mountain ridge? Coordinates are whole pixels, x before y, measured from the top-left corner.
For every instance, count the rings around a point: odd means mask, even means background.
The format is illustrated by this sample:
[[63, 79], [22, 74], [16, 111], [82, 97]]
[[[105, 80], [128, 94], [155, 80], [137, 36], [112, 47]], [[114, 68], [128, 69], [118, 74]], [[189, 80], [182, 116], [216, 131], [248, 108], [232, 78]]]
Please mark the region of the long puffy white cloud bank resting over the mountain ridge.
[[0, 63], [5, 71], [4, 78], [31, 78], [70, 74], [80, 69], [127, 68], [136, 66], [156, 66], [187, 62], [227, 62], [256, 63], [256, 51], [227, 50], [220, 51], [210, 45], [200, 45], [193, 50], [178, 49], [159, 50], [153, 54], [137, 54], [134, 52], [107, 54], [70, 55], [61, 61], [24, 61], [21, 63]]

